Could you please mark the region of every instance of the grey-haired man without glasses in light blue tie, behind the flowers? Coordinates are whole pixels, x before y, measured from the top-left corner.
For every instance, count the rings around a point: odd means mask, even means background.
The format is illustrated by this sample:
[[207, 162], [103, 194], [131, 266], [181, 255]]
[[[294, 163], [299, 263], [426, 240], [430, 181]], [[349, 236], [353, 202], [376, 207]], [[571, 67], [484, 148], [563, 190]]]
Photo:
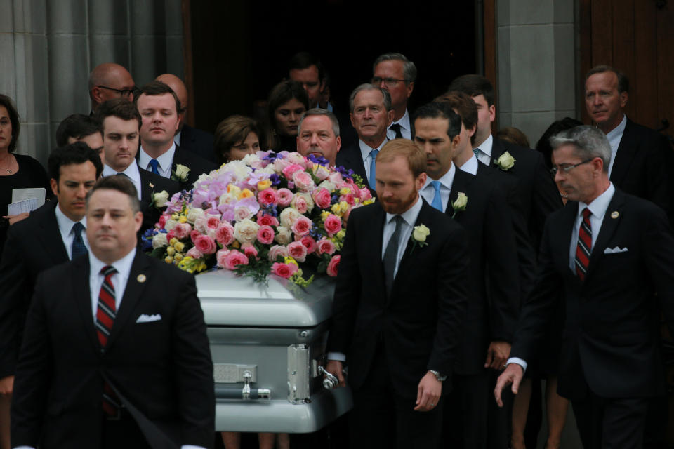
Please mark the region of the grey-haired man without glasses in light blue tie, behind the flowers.
[[375, 161], [383, 145], [388, 142], [386, 128], [393, 118], [391, 96], [388, 91], [372, 84], [361, 84], [351, 93], [349, 108], [351, 125], [358, 134], [358, 142], [338, 152], [336, 165], [353, 170], [362, 177], [374, 196]]

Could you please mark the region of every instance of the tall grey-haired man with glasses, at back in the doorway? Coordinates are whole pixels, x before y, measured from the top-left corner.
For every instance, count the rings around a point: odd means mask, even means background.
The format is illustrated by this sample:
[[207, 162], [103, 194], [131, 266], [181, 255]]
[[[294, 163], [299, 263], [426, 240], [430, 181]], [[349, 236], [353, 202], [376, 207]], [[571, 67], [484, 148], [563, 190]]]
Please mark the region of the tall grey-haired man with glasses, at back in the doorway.
[[372, 65], [372, 84], [391, 95], [393, 122], [386, 132], [389, 139], [411, 139], [407, 100], [414, 90], [416, 66], [401, 53], [384, 53]]

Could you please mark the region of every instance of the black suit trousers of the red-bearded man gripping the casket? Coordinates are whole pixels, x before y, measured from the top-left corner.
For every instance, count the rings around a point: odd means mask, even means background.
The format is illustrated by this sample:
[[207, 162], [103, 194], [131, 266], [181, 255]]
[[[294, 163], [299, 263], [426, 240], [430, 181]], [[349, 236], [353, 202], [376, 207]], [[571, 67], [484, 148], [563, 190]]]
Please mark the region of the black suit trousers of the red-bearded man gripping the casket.
[[353, 391], [351, 449], [437, 448], [444, 398], [430, 412], [414, 411], [415, 402], [395, 394], [380, 345], [364, 384]]

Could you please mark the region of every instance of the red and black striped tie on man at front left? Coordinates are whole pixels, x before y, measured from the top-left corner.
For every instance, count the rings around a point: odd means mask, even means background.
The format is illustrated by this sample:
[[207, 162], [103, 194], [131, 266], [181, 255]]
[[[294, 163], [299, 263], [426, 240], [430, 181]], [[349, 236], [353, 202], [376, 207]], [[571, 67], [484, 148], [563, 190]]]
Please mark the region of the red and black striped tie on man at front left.
[[[98, 309], [96, 310], [96, 335], [101, 348], [107, 345], [107, 338], [110, 337], [110, 330], [114, 323], [114, 317], [117, 315], [117, 307], [114, 303], [114, 286], [112, 285], [112, 275], [117, 270], [110, 265], [106, 265], [100, 270], [103, 274], [103, 284], [98, 293]], [[105, 415], [113, 417], [119, 414], [121, 405], [117, 394], [114, 394], [112, 388], [107, 382], [103, 382], [103, 412]]]

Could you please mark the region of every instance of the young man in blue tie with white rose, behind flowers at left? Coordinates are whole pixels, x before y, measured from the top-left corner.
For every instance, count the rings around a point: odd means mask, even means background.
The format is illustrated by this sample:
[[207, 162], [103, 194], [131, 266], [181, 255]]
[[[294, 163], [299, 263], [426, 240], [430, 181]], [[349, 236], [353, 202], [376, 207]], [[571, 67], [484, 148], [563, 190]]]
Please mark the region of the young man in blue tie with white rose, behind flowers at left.
[[161, 81], [147, 83], [134, 102], [143, 119], [137, 159], [140, 168], [176, 180], [187, 190], [194, 187], [200, 175], [217, 168], [215, 163], [181, 149], [173, 141], [180, 100], [169, 86]]

